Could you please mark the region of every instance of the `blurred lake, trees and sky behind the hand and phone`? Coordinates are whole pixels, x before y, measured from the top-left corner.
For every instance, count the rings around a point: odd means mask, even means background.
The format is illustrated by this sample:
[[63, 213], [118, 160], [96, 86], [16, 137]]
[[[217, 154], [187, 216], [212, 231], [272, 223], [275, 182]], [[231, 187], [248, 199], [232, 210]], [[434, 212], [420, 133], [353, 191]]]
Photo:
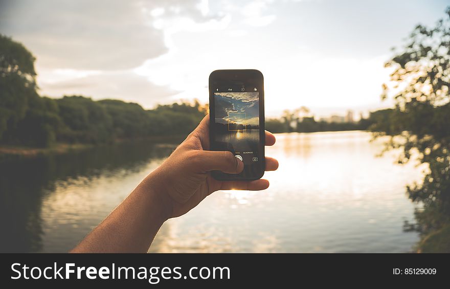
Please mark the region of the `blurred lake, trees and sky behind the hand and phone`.
[[450, 252], [446, 1], [0, 1], [0, 252], [66, 252], [258, 69], [279, 160], [149, 252]]

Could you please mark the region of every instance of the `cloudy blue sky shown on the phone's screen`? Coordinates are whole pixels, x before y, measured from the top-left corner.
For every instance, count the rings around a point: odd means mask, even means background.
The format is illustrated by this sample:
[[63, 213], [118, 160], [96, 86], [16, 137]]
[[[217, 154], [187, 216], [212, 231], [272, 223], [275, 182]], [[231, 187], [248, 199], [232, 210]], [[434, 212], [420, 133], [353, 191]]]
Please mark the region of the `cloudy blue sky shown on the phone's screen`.
[[217, 123], [259, 125], [258, 92], [214, 93]]

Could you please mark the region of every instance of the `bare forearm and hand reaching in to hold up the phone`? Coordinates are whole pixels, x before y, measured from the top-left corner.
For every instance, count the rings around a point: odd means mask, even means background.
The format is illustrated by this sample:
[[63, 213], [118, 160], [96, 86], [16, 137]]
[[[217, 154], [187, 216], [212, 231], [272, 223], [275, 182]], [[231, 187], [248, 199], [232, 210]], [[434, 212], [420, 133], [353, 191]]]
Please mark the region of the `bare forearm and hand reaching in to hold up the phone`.
[[[265, 144], [275, 137], [265, 132]], [[222, 182], [210, 171], [239, 173], [242, 161], [229, 151], [209, 150], [209, 116], [158, 168], [125, 198], [71, 252], [147, 252], [154, 236], [169, 218], [181, 216], [217, 190], [264, 190], [267, 180]], [[265, 158], [265, 170], [276, 170], [277, 160]]]

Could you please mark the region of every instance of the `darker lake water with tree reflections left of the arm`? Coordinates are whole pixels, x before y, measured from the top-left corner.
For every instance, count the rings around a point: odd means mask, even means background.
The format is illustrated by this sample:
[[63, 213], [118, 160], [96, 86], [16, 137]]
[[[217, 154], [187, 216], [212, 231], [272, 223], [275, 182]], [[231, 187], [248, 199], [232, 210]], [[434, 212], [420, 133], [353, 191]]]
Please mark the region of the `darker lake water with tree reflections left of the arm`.
[[[121, 180], [153, 169], [173, 148], [125, 143], [1, 163], [0, 224], [7, 233], [0, 238], [0, 250], [71, 249], [140, 181]], [[92, 190], [114, 180], [120, 183], [120, 196], [113, 197], [110, 187]]]

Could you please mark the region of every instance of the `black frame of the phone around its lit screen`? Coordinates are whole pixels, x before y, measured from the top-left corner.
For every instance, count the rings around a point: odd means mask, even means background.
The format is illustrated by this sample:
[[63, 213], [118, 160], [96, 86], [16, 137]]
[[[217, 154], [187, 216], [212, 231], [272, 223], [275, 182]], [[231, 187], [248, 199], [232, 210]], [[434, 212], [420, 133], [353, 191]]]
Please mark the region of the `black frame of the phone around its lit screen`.
[[[249, 81], [251, 79], [251, 81]], [[252, 82], [256, 85], [259, 92], [259, 157], [261, 161], [258, 162], [258, 174], [254, 176], [239, 176], [239, 174], [225, 174], [219, 171], [211, 172], [214, 179], [219, 181], [252, 181], [261, 179], [265, 171], [265, 120], [264, 120], [264, 77], [259, 70], [243, 69], [243, 70], [215, 70], [209, 76], [209, 110], [210, 110], [210, 149], [214, 143], [215, 131], [215, 112], [214, 112], [214, 93], [217, 83], [230, 83], [236, 80], [243, 80], [244, 82]]]

